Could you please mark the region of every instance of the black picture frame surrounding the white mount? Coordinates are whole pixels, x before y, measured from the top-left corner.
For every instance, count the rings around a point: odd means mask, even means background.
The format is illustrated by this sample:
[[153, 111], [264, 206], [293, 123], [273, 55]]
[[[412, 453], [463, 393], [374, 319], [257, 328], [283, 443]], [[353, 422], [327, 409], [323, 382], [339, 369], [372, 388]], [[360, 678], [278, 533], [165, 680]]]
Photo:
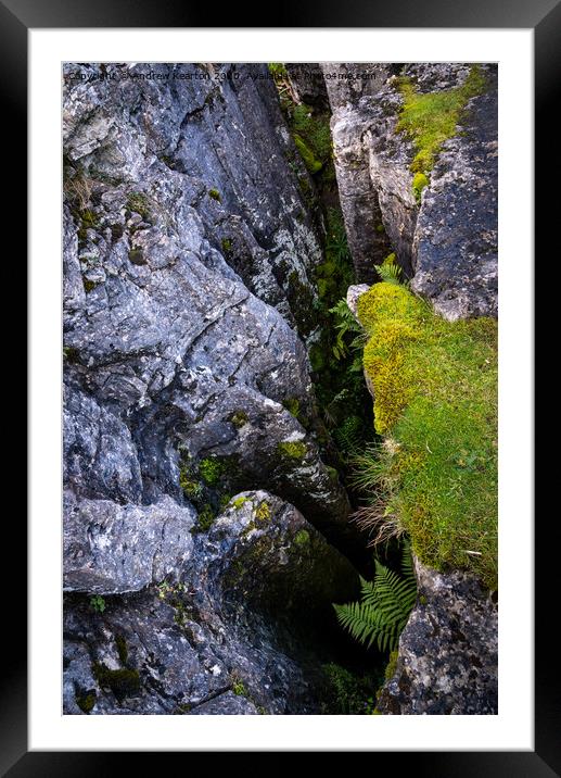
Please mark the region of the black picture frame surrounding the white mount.
[[[250, 11], [250, 12], [248, 12]], [[359, 0], [313, 3], [290, 0], [282, 8], [275, 8], [280, 27], [466, 27], [466, 28], [532, 28], [535, 36], [535, 148], [541, 154], [536, 159], [535, 225], [536, 253], [540, 240], [559, 221], [556, 200], [547, 186], [550, 178], [551, 150], [557, 149], [558, 127], [551, 117], [556, 115], [556, 86], [561, 76], [561, 4], [558, 0], [519, 0], [506, 4], [503, 0], [471, 0], [457, 4], [448, 0], [400, 0], [382, 3], [374, 0], [361, 4]], [[253, 12], [256, 13], [256, 12]], [[255, 27], [260, 18], [243, 7], [231, 4], [220, 9], [220, 26]], [[10, 231], [20, 237], [21, 253], [27, 235], [26, 214], [26, 162], [23, 139], [27, 131], [27, 32], [29, 28], [72, 27], [207, 27], [215, 21], [216, 9], [195, 5], [186, 0], [0, 0], [0, 93], [7, 136], [4, 172], [12, 167], [10, 193], [14, 204], [10, 214]], [[213, 16], [215, 17], [213, 20]], [[17, 152], [15, 152], [17, 150]], [[15, 153], [12, 153], [12, 152]], [[548, 160], [546, 162], [546, 154]], [[546, 178], [546, 173], [548, 177]], [[16, 205], [20, 203], [20, 206]], [[524, 214], [522, 214], [524, 217]], [[527, 214], [532, 218], [531, 214]], [[541, 229], [540, 229], [541, 227]], [[547, 227], [547, 229], [546, 229]], [[33, 225], [30, 225], [33, 228]], [[18, 258], [24, 267], [23, 256]], [[533, 268], [528, 268], [532, 283]], [[18, 430], [21, 435], [21, 430]], [[382, 752], [372, 754], [377, 769], [411, 770], [415, 776], [535, 776], [544, 778], [561, 775], [561, 718], [559, 697], [556, 692], [558, 677], [554, 645], [548, 627], [551, 625], [550, 603], [557, 590], [553, 580], [557, 569], [558, 545], [551, 542], [550, 529], [544, 524], [536, 526], [535, 552], [539, 564], [536, 568], [535, 601], [535, 751], [534, 752]], [[11, 518], [10, 544], [26, 549], [26, 527], [20, 517]], [[23, 561], [23, 560], [22, 560]], [[27, 746], [27, 644], [26, 644], [26, 589], [23, 575], [17, 586], [10, 589], [2, 603], [2, 622], [9, 630], [9, 662], [2, 664], [0, 686], [0, 769], [11, 778], [23, 776], [100, 776], [111, 775], [113, 769], [130, 768], [130, 754], [78, 753], [78, 752], [28, 752]], [[8, 642], [8, 641], [7, 641]], [[253, 764], [255, 754], [244, 754], [245, 768]], [[191, 758], [190, 755], [183, 757]], [[275, 767], [282, 769], [289, 754], [280, 754]], [[161, 760], [162, 754], [155, 756]], [[247, 762], [250, 758], [250, 762]], [[151, 754], [142, 754], [144, 767], [155, 766]], [[231, 760], [231, 755], [229, 755]], [[382, 761], [382, 762], [381, 762]], [[238, 760], [234, 761], [234, 766]], [[373, 763], [372, 763], [373, 764]], [[113, 767], [110, 767], [113, 765]], [[231, 768], [231, 767], [230, 767]], [[251, 769], [251, 768], [250, 768]]]

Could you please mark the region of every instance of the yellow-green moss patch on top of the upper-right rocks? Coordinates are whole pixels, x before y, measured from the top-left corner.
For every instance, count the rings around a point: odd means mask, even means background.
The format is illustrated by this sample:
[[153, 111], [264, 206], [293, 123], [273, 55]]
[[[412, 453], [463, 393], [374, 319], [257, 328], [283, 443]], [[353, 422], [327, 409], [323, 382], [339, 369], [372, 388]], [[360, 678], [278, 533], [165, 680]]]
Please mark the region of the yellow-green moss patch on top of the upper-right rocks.
[[399, 79], [404, 105], [397, 131], [415, 142], [413, 173], [428, 173], [442, 145], [456, 135], [456, 128], [470, 98], [485, 90], [486, 79], [480, 65], [473, 65], [464, 84], [452, 89], [421, 93], [410, 78]]

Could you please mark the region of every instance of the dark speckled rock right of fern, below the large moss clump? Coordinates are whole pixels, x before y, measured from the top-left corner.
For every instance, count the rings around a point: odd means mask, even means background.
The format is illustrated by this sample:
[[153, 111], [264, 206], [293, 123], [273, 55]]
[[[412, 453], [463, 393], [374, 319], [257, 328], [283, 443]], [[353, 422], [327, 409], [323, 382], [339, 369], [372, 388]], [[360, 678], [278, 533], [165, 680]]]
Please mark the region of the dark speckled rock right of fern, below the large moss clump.
[[497, 607], [468, 574], [416, 561], [419, 602], [399, 639], [395, 675], [378, 710], [387, 715], [498, 713]]

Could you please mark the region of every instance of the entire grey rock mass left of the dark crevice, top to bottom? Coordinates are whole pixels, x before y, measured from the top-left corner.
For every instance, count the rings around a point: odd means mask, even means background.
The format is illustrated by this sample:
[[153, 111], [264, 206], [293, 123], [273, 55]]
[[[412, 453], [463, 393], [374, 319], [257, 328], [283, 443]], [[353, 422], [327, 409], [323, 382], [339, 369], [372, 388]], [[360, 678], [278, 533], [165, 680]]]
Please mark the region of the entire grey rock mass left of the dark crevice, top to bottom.
[[314, 431], [321, 250], [266, 73], [65, 66], [66, 713], [314, 712], [318, 658], [275, 610], [309, 633], [303, 604], [356, 582], [314, 527], [349, 505]]

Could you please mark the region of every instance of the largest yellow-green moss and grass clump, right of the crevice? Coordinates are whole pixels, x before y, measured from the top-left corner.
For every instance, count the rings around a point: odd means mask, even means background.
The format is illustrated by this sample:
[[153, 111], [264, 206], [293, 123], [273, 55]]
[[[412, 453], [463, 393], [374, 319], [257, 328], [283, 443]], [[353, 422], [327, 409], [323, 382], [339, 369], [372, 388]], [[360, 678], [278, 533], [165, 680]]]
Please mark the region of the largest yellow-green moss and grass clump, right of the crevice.
[[445, 322], [396, 284], [358, 300], [386, 515], [436, 569], [497, 575], [497, 323]]

